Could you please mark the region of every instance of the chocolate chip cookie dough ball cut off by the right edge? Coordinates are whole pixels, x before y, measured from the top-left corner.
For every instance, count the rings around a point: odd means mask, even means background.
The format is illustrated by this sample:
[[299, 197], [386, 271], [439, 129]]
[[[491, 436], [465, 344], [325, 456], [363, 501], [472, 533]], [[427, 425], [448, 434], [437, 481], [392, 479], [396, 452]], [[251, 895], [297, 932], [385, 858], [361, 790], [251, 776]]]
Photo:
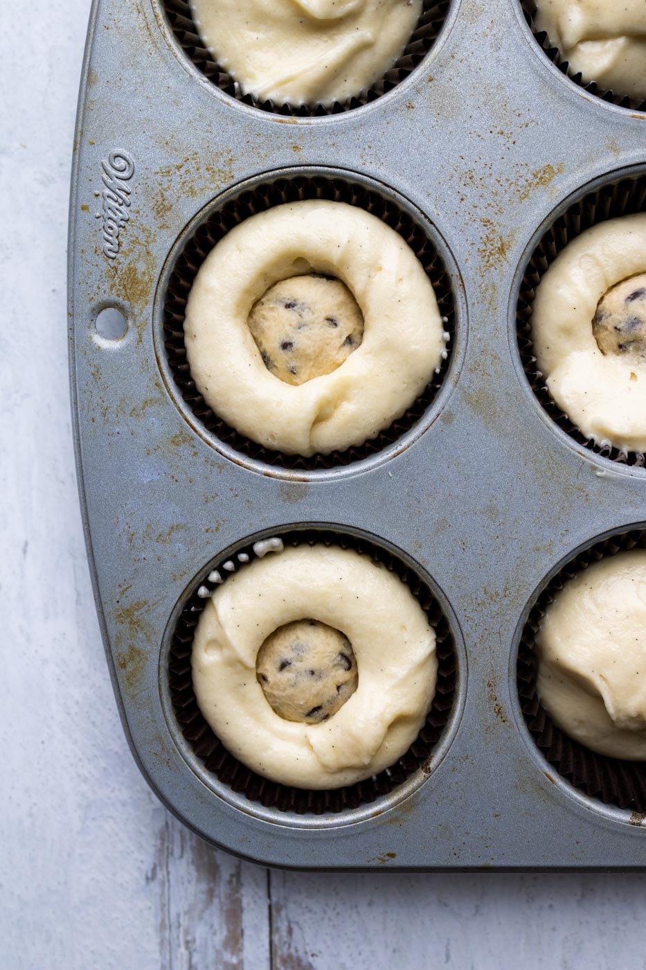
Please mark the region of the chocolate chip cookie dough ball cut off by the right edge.
[[593, 333], [602, 354], [646, 357], [646, 273], [608, 290], [599, 302]]

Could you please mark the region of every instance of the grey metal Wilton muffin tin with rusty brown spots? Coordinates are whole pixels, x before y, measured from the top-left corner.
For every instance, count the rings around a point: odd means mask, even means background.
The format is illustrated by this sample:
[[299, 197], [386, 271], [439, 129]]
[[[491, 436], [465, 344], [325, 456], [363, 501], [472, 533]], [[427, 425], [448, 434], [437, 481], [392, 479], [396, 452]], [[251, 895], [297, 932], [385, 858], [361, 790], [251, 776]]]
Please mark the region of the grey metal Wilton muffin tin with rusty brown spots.
[[[270, 865], [645, 868], [643, 805], [626, 787], [584, 791], [537, 730], [526, 624], [575, 557], [641, 534], [646, 469], [550, 412], [524, 328], [536, 253], [564, 215], [590, 217], [591, 193], [646, 178], [646, 114], [568, 79], [520, 0], [437, 5], [421, 62], [365, 104], [313, 115], [260, 110], [210, 81], [172, 6], [92, 8], [70, 222], [81, 508], [145, 778], [201, 836]], [[242, 446], [178, 381], [172, 282], [217, 213], [318, 190], [368, 194], [414, 225], [444, 279], [450, 354], [383, 439], [295, 463]], [[435, 733], [359, 797], [264, 796], [202, 757], [182, 722], [197, 590], [273, 535], [363, 544], [398, 564], [450, 644]]]

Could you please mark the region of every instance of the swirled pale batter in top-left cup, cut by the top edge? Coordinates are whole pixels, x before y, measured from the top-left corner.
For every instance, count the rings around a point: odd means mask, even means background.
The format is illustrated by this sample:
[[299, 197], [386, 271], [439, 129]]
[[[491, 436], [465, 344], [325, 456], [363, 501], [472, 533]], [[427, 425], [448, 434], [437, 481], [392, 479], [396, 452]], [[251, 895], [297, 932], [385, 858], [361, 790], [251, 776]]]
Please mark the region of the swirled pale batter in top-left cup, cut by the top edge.
[[422, 0], [189, 0], [205, 47], [259, 101], [331, 105], [404, 51]]

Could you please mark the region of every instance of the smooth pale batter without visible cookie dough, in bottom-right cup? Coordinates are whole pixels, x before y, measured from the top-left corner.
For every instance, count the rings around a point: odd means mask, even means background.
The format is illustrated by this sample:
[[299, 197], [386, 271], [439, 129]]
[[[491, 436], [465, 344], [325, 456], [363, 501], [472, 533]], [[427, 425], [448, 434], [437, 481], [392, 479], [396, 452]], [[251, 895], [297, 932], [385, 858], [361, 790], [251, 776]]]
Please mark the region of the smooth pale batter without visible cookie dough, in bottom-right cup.
[[611, 758], [646, 760], [646, 551], [565, 584], [536, 635], [537, 691], [558, 727]]

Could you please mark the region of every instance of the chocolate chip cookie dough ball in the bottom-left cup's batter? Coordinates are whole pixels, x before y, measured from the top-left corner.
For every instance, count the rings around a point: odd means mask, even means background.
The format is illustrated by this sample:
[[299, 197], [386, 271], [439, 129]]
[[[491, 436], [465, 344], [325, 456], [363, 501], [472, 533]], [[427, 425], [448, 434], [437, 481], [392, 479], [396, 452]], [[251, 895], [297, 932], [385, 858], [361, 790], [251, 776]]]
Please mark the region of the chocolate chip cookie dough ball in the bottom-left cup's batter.
[[350, 641], [317, 620], [297, 620], [268, 636], [256, 673], [275, 713], [308, 725], [336, 714], [359, 683]]

